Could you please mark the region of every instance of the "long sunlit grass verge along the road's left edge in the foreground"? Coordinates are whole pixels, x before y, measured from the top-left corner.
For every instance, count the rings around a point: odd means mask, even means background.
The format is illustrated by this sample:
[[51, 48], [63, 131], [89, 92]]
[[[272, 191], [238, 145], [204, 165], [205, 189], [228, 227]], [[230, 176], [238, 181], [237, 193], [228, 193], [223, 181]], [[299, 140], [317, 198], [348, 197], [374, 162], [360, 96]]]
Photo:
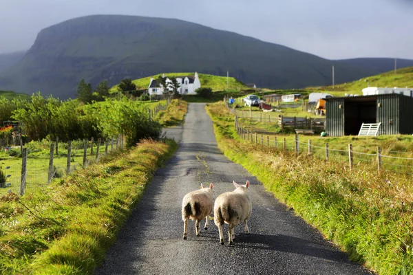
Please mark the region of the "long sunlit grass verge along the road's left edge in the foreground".
[[143, 141], [39, 192], [0, 197], [0, 274], [92, 274], [176, 148]]

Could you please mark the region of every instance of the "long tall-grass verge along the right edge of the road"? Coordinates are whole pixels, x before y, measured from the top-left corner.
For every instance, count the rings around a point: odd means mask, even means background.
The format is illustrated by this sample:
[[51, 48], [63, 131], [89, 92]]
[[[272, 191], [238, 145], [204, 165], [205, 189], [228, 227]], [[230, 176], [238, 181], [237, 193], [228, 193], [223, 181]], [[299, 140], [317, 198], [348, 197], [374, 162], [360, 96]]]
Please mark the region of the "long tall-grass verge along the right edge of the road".
[[410, 177], [255, 146], [237, 137], [222, 102], [209, 104], [218, 146], [327, 239], [379, 274], [413, 272]]

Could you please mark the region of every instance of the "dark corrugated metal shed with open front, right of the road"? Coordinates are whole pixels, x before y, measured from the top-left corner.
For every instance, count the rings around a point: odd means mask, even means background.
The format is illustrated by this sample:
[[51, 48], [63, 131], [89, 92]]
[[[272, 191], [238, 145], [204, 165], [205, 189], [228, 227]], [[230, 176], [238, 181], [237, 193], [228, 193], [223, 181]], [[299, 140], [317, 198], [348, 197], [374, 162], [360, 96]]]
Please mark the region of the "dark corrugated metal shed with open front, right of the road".
[[357, 135], [361, 124], [379, 123], [379, 135], [413, 133], [413, 98], [401, 94], [326, 98], [326, 133]]

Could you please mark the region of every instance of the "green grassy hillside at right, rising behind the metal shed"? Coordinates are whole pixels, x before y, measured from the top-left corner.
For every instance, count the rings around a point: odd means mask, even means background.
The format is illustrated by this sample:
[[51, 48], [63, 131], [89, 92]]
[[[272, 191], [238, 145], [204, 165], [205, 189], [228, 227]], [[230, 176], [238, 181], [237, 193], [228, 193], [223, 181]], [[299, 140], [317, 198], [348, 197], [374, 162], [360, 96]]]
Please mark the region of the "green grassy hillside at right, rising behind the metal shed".
[[[335, 85], [335, 91], [350, 92], [352, 94], [363, 94], [362, 89], [366, 87], [413, 87], [413, 67], [397, 69], [384, 74], [368, 76], [350, 83]], [[332, 91], [332, 86], [308, 87], [311, 90]]]

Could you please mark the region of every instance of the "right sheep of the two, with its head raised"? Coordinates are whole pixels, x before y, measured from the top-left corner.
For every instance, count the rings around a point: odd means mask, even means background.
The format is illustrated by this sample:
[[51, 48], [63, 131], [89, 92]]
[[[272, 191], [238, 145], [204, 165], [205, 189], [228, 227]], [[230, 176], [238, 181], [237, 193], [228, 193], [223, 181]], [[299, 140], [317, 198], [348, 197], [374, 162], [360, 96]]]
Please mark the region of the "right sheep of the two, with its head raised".
[[235, 190], [224, 192], [215, 199], [213, 207], [213, 219], [220, 232], [220, 242], [224, 245], [224, 233], [222, 225], [228, 224], [229, 244], [233, 244], [235, 239], [234, 228], [241, 221], [245, 225], [245, 233], [249, 234], [248, 219], [251, 217], [252, 203], [248, 197], [249, 181], [246, 184], [239, 185], [233, 181]]

